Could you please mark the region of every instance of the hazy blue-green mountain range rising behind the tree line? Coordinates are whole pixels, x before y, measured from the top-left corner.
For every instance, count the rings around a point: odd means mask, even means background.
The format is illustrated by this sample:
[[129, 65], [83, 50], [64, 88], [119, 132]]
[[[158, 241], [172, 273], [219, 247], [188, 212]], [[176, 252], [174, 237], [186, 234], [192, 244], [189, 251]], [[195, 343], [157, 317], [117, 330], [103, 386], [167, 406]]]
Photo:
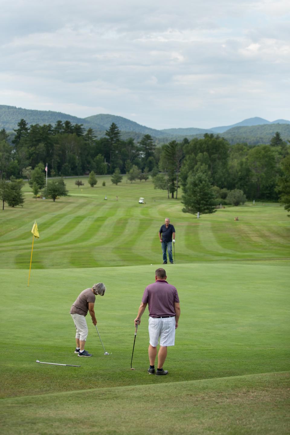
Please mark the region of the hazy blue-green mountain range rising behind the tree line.
[[[247, 139], [249, 134], [250, 136], [254, 135], [256, 137], [258, 135], [263, 141], [268, 140], [268, 138], [271, 137], [269, 135], [273, 136], [276, 131], [280, 131], [281, 136], [285, 140], [290, 137], [290, 121], [284, 119], [278, 119], [271, 122], [267, 119], [253, 117], [238, 122], [237, 124], [212, 127], [209, 129], [189, 127], [157, 130], [138, 124], [137, 122], [127, 118], [110, 114], [98, 114], [86, 118], [80, 118], [51, 110], [30, 110], [15, 106], [0, 105], [0, 129], [5, 128], [6, 131], [13, 131], [13, 129], [17, 129], [17, 123], [20, 121], [20, 119], [25, 119], [28, 125], [54, 125], [58, 120], [63, 122], [68, 120], [72, 124], [83, 124], [83, 127], [86, 130], [88, 128], [93, 128], [98, 137], [104, 136], [105, 131], [110, 127], [112, 122], [114, 122], [122, 132], [122, 137], [124, 139], [133, 137], [135, 140], [140, 140], [144, 134], [150, 134], [157, 141], [157, 143], [170, 141], [173, 139], [182, 140], [184, 137], [187, 137], [188, 139], [191, 139], [192, 137], [203, 137], [203, 134], [205, 133], [223, 133], [223, 137], [227, 138], [232, 143], [241, 141], [242, 137], [243, 140], [251, 143], [251, 141]], [[238, 140], [237, 134], [240, 137]], [[255, 142], [252, 141], [252, 143], [254, 144]]]

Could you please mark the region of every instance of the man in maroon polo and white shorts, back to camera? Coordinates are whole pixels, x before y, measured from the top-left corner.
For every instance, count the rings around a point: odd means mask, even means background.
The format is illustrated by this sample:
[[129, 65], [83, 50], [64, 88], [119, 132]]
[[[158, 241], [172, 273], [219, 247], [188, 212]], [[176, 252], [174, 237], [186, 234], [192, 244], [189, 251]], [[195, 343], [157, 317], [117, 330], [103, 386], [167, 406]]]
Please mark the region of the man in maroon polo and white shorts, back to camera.
[[167, 375], [168, 370], [163, 370], [167, 356], [167, 346], [174, 346], [175, 329], [178, 327], [180, 317], [180, 304], [177, 289], [166, 281], [166, 272], [160, 268], [155, 271], [155, 282], [149, 284], [144, 291], [141, 305], [135, 319], [135, 326], [139, 322], [148, 304], [149, 309], [149, 338], [148, 355], [150, 367], [148, 373], [155, 373], [155, 358], [157, 345], [160, 338], [158, 352], [158, 367], [156, 375]]

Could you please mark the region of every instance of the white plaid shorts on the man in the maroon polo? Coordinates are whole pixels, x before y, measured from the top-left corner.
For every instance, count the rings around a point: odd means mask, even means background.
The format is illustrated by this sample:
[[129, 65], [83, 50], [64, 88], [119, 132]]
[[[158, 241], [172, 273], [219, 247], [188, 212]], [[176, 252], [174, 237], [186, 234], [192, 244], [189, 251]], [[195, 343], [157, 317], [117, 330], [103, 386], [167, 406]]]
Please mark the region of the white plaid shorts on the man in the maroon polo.
[[160, 346], [174, 346], [175, 317], [153, 318], [149, 317], [150, 345], [156, 348], [160, 338]]

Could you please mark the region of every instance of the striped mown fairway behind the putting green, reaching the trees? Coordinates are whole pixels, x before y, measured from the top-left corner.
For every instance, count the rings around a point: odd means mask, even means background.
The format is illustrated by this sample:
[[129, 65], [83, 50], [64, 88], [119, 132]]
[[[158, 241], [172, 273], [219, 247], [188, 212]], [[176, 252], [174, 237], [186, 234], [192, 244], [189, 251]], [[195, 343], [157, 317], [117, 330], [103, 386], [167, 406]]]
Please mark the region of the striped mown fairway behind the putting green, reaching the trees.
[[[1, 211], [0, 268], [27, 269], [34, 219], [40, 239], [34, 244], [33, 269], [157, 263], [162, 258], [158, 231], [165, 217], [176, 227], [178, 263], [290, 258], [289, 218], [279, 204], [247, 203], [197, 219], [182, 212], [180, 200], [154, 190], [150, 180], [131, 184], [124, 178], [115, 186], [109, 176], [99, 177], [92, 188], [84, 178], [82, 189], [74, 181], [66, 180], [70, 197], [55, 203], [35, 201], [26, 184], [24, 207]], [[146, 204], [138, 204], [140, 196]]]

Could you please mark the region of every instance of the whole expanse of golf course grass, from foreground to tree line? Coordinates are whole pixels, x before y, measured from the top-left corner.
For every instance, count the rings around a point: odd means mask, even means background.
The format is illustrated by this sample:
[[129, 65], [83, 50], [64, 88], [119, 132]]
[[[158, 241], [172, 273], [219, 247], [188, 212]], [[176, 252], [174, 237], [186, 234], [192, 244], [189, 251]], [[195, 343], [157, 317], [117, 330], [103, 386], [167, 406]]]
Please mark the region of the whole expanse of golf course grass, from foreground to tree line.
[[[247, 203], [197, 220], [150, 180], [113, 186], [98, 177], [91, 188], [83, 179], [83, 190], [74, 181], [66, 180], [70, 196], [55, 203], [35, 201], [26, 185], [23, 208], [0, 214], [3, 433], [78, 433], [82, 413], [85, 434], [289, 433], [285, 210]], [[141, 196], [146, 204], [138, 204]], [[169, 375], [160, 379], [147, 373], [147, 310], [135, 371], [130, 361], [143, 289], [162, 263], [165, 217], [176, 228], [176, 264], [165, 268], [181, 317], [164, 366]], [[27, 287], [34, 219], [40, 239]], [[70, 306], [99, 281], [107, 291], [96, 298], [97, 327], [112, 355], [103, 355], [87, 316], [93, 357], [78, 358]]]

